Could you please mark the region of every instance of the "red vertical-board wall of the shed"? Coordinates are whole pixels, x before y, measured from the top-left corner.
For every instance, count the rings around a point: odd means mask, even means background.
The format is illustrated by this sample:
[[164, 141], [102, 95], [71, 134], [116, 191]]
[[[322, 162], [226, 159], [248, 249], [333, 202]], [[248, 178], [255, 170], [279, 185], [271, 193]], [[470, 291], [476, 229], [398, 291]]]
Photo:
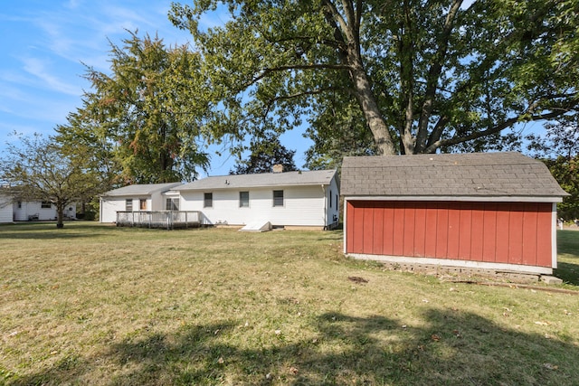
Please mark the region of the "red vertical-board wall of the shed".
[[549, 202], [346, 202], [346, 253], [552, 266]]

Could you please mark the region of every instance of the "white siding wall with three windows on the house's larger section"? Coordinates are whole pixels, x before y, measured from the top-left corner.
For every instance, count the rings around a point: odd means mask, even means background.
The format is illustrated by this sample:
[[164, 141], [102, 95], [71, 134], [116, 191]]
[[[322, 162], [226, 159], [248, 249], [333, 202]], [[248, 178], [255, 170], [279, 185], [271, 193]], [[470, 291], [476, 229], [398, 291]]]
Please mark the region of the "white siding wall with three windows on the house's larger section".
[[[283, 206], [273, 205], [273, 191], [283, 191]], [[333, 221], [326, 212], [327, 186], [276, 186], [239, 190], [181, 191], [181, 210], [203, 212], [210, 224], [245, 225], [270, 221], [273, 226], [324, 227]], [[249, 192], [249, 207], [240, 207], [240, 192]], [[337, 187], [334, 188], [337, 193]], [[213, 206], [204, 207], [204, 193], [213, 193]], [[329, 218], [328, 218], [329, 217]]]

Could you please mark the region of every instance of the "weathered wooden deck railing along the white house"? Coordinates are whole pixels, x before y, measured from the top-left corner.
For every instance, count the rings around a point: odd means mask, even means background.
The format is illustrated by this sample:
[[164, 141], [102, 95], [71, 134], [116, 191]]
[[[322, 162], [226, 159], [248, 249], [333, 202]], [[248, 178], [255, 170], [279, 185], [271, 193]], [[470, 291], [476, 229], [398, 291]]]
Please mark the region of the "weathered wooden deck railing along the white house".
[[195, 211], [117, 212], [118, 227], [174, 230], [199, 227], [202, 222], [201, 212]]

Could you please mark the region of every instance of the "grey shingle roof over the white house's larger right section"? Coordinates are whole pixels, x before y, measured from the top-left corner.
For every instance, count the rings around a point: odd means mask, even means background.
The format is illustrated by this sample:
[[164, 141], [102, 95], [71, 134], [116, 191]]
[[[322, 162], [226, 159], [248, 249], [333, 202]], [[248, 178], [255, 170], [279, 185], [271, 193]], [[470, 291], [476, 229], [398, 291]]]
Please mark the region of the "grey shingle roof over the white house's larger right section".
[[313, 170], [306, 172], [284, 172], [264, 174], [235, 174], [205, 177], [193, 183], [178, 186], [173, 190], [242, 189], [272, 186], [327, 185], [336, 175], [336, 170]]

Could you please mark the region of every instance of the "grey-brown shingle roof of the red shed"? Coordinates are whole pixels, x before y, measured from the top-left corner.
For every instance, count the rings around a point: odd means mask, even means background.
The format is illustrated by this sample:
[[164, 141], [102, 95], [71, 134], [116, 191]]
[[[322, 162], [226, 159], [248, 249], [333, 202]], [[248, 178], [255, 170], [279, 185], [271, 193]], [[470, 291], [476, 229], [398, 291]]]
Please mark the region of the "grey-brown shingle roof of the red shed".
[[346, 196], [563, 197], [546, 165], [516, 152], [346, 156]]

